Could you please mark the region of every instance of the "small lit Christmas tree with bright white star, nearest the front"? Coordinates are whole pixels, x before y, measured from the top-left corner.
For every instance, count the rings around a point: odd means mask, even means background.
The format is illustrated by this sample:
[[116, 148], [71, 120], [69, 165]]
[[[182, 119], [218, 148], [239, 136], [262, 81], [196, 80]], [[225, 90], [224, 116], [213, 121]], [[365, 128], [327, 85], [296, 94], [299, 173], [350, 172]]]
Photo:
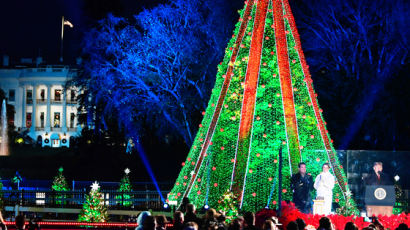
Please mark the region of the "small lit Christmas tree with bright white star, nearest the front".
[[108, 220], [107, 207], [104, 205], [103, 196], [100, 193], [100, 186], [97, 181], [91, 185], [89, 195], [85, 196], [86, 200], [83, 209], [78, 217], [79, 222], [106, 222]]

